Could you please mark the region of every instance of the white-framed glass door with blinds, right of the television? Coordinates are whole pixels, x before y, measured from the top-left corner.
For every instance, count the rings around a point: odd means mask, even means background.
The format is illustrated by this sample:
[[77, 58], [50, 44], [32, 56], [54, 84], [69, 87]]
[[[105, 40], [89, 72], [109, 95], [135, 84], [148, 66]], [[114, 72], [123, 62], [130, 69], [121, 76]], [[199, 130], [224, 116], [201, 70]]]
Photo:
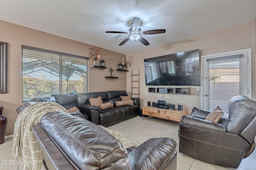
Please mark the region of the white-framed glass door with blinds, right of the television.
[[224, 113], [230, 98], [244, 95], [251, 98], [250, 49], [202, 56], [203, 109], [220, 106]]

